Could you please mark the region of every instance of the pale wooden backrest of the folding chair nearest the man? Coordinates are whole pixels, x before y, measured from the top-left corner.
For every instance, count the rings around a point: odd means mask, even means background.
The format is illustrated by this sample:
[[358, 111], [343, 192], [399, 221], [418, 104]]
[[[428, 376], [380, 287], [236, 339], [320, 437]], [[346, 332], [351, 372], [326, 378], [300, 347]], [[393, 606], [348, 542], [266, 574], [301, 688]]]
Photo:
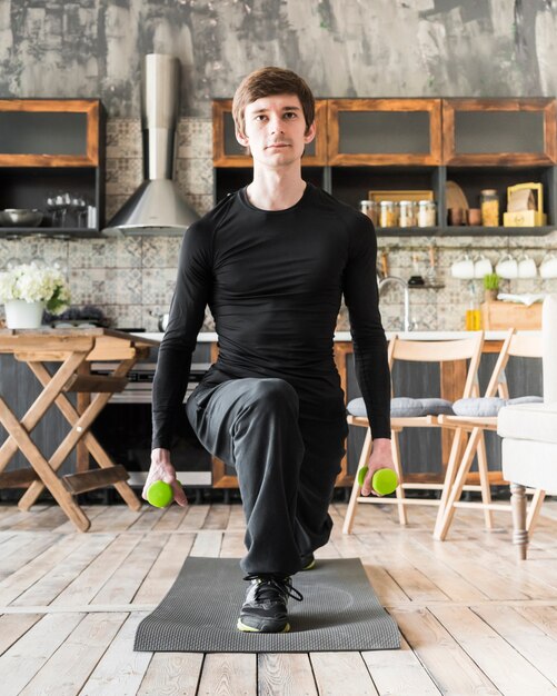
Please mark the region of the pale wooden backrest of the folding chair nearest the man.
[[395, 336], [389, 341], [389, 367], [392, 369], [395, 360], [417, 362], [470, 360], [464, 391], [459, 395], [459, 398], [470, 397], [475, 394], [475, 384], [477, 381], [477, 371], [483, 346], [484, 331], [474, 331], [474, 334], [470, 334], [470, 338], [438, 341], [409, 340]]

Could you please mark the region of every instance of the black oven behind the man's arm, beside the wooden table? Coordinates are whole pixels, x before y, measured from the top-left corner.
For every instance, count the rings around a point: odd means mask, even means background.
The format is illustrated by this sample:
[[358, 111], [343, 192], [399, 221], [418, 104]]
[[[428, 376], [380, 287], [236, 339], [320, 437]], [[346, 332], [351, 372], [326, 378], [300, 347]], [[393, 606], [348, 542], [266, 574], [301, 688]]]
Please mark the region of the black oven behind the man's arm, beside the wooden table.
[[[130, 486], [143, 486], [151, 459], [151, 402], [155, 361], [137, 362], [123, 391], [116, 392], [97, 417], [92, 432], [116, 464], [128, 470]], [[92, 362], [91, 374], [110, 375], [115, 365]], [[192, 362], [185, 401], [199, 384], [209, 364]], [[183, 409], [176, 419], [172, 466], [183, 486], [211, 487], [212, 460], [197, 439]]]

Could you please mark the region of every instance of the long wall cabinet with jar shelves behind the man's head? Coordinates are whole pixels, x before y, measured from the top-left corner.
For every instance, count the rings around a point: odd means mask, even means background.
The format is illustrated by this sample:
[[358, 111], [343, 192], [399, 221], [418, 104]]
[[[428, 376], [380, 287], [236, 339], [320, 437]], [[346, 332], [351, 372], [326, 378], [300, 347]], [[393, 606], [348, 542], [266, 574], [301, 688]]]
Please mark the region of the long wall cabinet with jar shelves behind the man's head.
[[[378, 236], [546, 235], [557, 225], [555, 99], [326, 99], [319, 105], [326, 118], [320, 116], [317, 126], [316, 156], [304, 160], [307, 180], [354, 208], [370, 190], [432, 191], [435, 226], [378, 227]], [[216, 201], [251, 180], [251, 160], [233, 145], [231, 107], [226, 108], [222, 100], [213, 103]], [[470, 208], [479, 208], [483, 189], [496, 189], [501, 211], [509, 186], [541, 182], [547, 225], [449, 226], [448, 182], [460, 187]]]

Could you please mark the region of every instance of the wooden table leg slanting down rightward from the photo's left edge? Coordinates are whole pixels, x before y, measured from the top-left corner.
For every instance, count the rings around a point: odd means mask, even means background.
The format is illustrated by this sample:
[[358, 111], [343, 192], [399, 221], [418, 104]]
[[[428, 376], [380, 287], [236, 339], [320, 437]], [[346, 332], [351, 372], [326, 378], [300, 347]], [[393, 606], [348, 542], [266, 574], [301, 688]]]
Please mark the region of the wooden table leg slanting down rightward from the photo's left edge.
[[91, 526], [89, 518], [73, 500], [71, 495], [66, 490], [61, 480], [51, 469], [49, 463], [44, 459], [39, 451], [37, 445], [29, 437], [29, 432], [19, 422], [16, 416], [12, 414], [6, 401], [0, 397], [0, 421], [8, 430], [11, 437], [16, 440], [19, 449], [27, 457], [33, 469], [37, 471], [43, 486], [54, 497], [54, 500], [62, 508], [69, 519], [76, 525], [80, 531], [87, 531]]

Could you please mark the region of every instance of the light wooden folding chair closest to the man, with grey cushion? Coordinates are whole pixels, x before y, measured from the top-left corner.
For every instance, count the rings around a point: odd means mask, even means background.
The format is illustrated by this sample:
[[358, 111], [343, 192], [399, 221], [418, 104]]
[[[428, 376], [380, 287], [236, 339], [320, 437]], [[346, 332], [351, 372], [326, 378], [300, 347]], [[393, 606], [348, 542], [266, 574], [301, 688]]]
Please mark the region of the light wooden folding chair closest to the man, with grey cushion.
[[[442, 369], [447, 367], [447, 364], [455, 364], [455, 361], [469, 360], [468, 369], [466, 370], [466, 380], [461, 394], [458, 398], [471, 397], [477, 394], [477, 370], [481, 356], [481, 348], [484, 345], [484, 332], [477, 331], [470, 335], [470, 338], [459, 340], [442, 340], [442, 341], [420, 341], [420, 340], [402, 340], [398, 337], [394, 337], [389, 342], [389, 367], [392, 366], [396, 360], [408, 360], [415, 362], [439, 362], [442, 374]], [[358, 476], [356, 475], [350, 501], [345, 518], [342, 531], [350, 534], [354, 519], [356, 516], [356, 506], [358, 503], [368, 504], [395, 504], [398, 506], [398, 517], [401, 525], [407, 524], [407, 505], [434, 505], [441, 506], [446, 500], [447, 478], [439, 477], [439, 474], [429, 475], [429, 480], [420, 481], [412, 480], [410, 476], [406, 477], [404, 474], [402, 463], [400, 461], [400, 447], [399, 447], [399, 434], [405, 428], [438, 428], [439, 427], [439, 412], [440, 410], [447, 410], [450, 408], [450, 402], [446, 401], [441, 404], [440, 399], [415, 399], [412, 401], [419, 401], [422, 404], [422, 415], [405, 416], [395, 415], [394, 406], [396, 399], [391, 399], [391, 441], [392, 441], [392, 459], [395, 469], [399, 479], [399, 486], [396, 490], [395, 498], [369, 496], [364, 497], [360, 495], [360, 486], [358, 485]], [[434, 404], [430, 404], [430, 402]], [[441, 409], [439, 409], [441, 407]], [[364, 400], [354, 399], [348, 405], [348, 424], [357, 427], [367, 428], [366, 439], [361, 449], [361, 455], [358, 464], [358, 471], [364, 466], [367, 466], [369, 456], [371, 455], [372, 440], [371, 431], [369, 429], [369, 421], [365, 415], [362, 415]], [[455, 469], [455, 461], [458, 458], [460, 451], [461, 431], [457, 428], [452, 445], [450, 447], [449, 461], [447, 471]], [[441, 489], [442, 495], [439, 499], [426, 499], [426, 498], [406, 498], [405, 491], [408, 489]], [[477, 490], [478, 486], [467, 486], [467, 489]]]

